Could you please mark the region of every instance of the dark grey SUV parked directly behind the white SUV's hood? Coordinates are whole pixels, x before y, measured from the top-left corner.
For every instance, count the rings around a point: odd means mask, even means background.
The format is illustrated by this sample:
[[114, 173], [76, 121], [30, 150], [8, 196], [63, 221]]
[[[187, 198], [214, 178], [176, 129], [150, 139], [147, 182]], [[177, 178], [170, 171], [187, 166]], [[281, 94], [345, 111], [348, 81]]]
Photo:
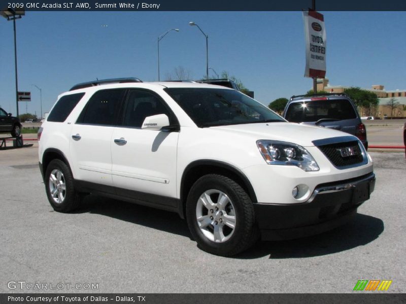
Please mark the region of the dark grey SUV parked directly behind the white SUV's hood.
[[315, 125], [357, 136], [368, 148], [365, 125], [357, 108], [346, 94], [326, 93], [292, 96], [286, 104], [284, 118], [293, 123]]

